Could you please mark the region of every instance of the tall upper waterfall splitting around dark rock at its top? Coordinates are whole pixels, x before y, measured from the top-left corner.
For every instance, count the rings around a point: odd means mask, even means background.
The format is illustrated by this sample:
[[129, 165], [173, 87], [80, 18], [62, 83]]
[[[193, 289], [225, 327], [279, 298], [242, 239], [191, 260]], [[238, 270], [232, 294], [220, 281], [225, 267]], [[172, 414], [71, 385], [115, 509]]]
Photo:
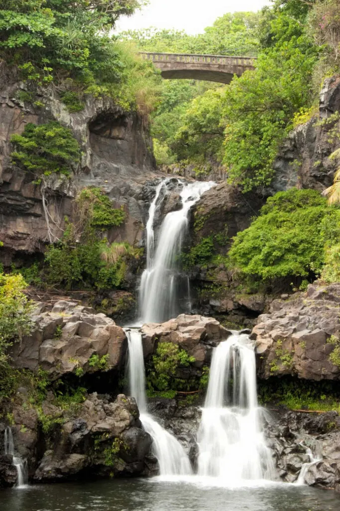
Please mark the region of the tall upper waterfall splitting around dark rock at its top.
[[184, 183], [180, 193], [182, 207], [164, 218], [154, 253], [154, 215], [160, 192], [168, 182], [166, 179], [156, 188], [146, 226], [147, 267], [141, 277], [139, 300], [140, 318], [146, 323], [166, 321], [181, 312], [177, 296], [178, 257], [188, 229], [188, 214], [202, 193], [215, 186], [213, 181]]

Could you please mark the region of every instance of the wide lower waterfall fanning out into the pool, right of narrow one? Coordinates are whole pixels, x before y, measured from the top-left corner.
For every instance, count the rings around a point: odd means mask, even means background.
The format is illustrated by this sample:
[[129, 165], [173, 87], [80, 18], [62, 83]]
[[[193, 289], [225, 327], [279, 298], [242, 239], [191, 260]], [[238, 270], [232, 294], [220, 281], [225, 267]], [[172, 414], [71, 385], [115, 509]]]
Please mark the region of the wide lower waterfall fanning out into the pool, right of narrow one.
[[214, 350], [198, 431], [198, 474], [230, 482], [273, 478], [260, 428], [254, 346], [234, 333]]

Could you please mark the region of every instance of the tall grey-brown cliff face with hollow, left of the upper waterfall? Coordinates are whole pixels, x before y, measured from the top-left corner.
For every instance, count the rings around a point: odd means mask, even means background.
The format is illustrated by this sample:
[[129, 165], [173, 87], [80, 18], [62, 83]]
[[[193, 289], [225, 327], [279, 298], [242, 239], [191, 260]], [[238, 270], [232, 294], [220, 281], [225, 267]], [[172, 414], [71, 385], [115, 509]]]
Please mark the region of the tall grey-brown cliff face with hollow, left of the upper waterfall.
[[64, 217], [72, 219], [72, 200], [77, 190], [91, 185], [102, 188], [113, 205], [122, 205], [127, 213], [124, 225], [108, 233], [109, 241], [138, 243], [147, 214], [147, 204], [140, 200], [139, 193], [145, 181], [159, 175], [142, 119], [136, 113], [124, 112], [109, 99], [89, 98], [81, 112], [69, 113], [50, 88], [41, 89], [38, 99], [44, 106], [36, 107], [17, 99], [20, 87], [22, 85], [7, 81], [0, 90], [2, 262], [9, 266], [17, 252], [41, 252], [48, 241], [40, 187], [33, 184], [32, 174], [10, 161], [11, 135], [21, 134], [30, 122], [43, 124], [58, 120], [71, 128], [81, 146], [81, 165], [73, 169], [69, 180], [50, 176], [48, 208], [53, 235], [60, 238]]

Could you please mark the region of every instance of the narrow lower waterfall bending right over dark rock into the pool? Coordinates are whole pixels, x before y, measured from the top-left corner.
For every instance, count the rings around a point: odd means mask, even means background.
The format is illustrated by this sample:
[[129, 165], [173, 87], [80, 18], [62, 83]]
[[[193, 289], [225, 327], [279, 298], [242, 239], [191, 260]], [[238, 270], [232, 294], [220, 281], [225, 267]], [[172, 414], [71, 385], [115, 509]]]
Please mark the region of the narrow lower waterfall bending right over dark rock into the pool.
[[191, 464], [185, 450], [173, 435], [147, 413], [142, 335], [138, 330], [126, 330], [125, 333], [128, 340], [130, 396], [136, 399], [140, 420], [153, 439], [152, 447], [159, 462], [160, 475], [190, 475]]

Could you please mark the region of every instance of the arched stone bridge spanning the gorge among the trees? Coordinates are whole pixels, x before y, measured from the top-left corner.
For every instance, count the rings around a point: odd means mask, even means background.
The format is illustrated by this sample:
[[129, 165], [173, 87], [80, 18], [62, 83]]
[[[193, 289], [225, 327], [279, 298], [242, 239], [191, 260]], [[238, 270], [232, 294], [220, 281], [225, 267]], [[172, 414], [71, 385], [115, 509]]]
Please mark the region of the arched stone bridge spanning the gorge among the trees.
[[254, 69], [254, 57], [227, 55], [189, 55], [184, 53], [140, 52], [145, 60], [152, 60], [161, 69], [165, 79], [189, 78], [210, 82], [230, 83], [233, 75], [241, 76]]

